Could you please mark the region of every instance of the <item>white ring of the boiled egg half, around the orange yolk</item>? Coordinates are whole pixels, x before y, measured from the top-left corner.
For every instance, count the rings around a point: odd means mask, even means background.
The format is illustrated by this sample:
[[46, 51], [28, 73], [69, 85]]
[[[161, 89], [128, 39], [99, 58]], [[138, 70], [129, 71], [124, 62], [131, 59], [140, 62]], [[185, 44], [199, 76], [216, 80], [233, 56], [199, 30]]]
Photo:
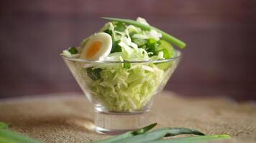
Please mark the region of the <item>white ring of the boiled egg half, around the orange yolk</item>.
[[93, 41], [101, 41], [102, 45], [99, 49], [99, 51], [94, 54], [89, 60], [99, 60], [103, 59], [104, 57], [108, 56], [110, 54], [111, 48], [112, 48], [112, 38], [109, 34], [106, 34], [104, 32], [99, 32], [96, 34], [93, 34], [86, 45], [83, 47], [83, 50], [81, 52], [81, 59], [87, 59], [86, 53], [88, 52], [89, 47], [91, 44], [93, 44]]

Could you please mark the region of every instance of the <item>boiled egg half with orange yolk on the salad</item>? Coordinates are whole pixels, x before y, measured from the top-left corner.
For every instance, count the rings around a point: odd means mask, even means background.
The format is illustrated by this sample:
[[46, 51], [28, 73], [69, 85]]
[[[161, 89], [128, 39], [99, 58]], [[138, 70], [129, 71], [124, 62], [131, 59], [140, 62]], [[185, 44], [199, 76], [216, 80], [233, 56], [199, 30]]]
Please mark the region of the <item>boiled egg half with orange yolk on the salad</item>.
[[99, 60], [109, 55], [112, 48], [112, 38], [109, 34], [99, 32], [93, 34], [81, 52], [81, 59]]

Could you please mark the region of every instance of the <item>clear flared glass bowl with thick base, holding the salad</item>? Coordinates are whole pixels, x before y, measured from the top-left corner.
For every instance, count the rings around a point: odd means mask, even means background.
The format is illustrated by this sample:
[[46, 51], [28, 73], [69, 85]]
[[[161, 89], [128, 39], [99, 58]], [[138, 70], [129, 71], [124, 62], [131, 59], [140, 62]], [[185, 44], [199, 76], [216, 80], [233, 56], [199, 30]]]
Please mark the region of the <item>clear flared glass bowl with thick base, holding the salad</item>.
[[121, 134], [148, 124], [155, 95], [163, 90], [180, 61], [89, 61], [63, 56], [95, 109], [96, 132]]

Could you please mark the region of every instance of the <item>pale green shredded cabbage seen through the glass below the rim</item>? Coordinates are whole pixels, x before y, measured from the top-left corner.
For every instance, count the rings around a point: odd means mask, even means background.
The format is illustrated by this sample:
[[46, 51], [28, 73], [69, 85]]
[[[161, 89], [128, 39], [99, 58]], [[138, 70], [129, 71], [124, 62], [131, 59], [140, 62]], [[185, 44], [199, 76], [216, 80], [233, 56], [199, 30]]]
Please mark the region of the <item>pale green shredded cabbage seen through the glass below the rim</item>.
[[101, 79], [91, 81], [88, 88], [114, 112], [142, 109], [167, 78], [155, 64], [132, 64], [130, 69], [122, 64], [96, 64], [93, 68], [103, 69]]

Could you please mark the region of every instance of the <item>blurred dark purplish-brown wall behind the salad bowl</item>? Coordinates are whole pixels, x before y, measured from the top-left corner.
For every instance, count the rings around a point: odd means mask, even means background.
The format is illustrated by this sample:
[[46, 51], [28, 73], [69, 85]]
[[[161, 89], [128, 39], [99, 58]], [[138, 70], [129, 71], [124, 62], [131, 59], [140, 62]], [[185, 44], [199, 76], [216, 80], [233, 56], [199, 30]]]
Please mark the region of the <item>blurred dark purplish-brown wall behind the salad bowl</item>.
[[81, 92], [59, 54], [102, 16], [141, 16], [186, 41], [166, 90], [256, 99], [255, 0], [0, 0], [0, 98]]

